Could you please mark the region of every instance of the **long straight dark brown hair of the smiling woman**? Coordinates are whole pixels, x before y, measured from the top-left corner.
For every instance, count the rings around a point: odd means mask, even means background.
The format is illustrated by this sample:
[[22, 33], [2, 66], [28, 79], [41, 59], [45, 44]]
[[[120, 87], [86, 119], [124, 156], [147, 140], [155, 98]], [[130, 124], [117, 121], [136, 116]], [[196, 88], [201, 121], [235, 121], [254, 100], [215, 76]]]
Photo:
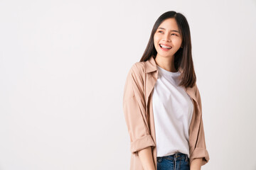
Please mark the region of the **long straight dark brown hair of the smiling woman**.
[[191, 33], [188, 26], [188, 21], [185, 16], [181, 13], [176, 13], [176, 11], [167, 11], [163, 13], [154, 23], [153, 29], [151, 30], [151, 35], [149, 38], [148, 45], [146, 50], [142, 55], [142, 58], [139, 62], [146, 62], [153, 55], [154, 59], [156, 58], [156, 48], [154, 47], [154, 34], [156, 33], [157, 28], [160, 24], [167, 18], [175, 18], [176, 23], [178, 24], [178, 30], [181, 31], [182, 43], [181, 47], [174, 55], [174, 67], [177, 70], [181, 71], [181, 79], [179, 86], [193, 87], [196, 83], [196, 73], [193, 68], [193, 59], [191, 52]]

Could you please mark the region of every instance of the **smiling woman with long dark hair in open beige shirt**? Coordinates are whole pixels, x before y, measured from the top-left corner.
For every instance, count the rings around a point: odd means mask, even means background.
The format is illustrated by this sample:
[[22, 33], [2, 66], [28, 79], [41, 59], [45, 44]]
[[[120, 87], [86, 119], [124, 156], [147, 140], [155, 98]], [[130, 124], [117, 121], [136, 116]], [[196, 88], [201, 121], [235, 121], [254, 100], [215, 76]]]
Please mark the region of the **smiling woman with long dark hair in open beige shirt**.
[[131, 170], [201, 169], [209, 154], [203, 130], [188, 22], [168, 11], [154, 23], [140, 62], [124, 86]]

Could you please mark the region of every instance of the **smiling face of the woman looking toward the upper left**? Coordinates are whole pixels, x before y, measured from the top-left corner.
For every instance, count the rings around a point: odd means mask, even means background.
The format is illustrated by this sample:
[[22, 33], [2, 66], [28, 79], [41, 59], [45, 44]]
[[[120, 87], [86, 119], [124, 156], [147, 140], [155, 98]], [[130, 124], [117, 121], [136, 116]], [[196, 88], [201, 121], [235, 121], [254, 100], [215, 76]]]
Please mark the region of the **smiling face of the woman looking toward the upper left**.
[[154, 47], [157, 55], [171, 57], [181, 47], [182, 37], [175, 18], [164, 20], [154, 34]]

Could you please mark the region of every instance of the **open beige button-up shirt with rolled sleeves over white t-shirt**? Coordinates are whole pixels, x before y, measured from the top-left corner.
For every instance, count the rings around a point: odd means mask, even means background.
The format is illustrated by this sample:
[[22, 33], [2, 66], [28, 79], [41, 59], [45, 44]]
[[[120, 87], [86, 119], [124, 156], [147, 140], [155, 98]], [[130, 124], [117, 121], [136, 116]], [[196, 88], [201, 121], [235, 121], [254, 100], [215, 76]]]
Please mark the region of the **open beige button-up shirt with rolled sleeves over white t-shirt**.
[[[156, 133], [152, 107], [152, 90], [156, 84], [158, 70], [154, 57], [146, 62], [136, 62], [132, 65], [124, 85], [123, 110], [127, 124], [131, 162], [130, 170], [144, 170], [138, 151], [151, 147], [154, 165], [156, 164]], [[209, 154], [203, 130], [201, 96], [197, 85], [186, 88], [188, 96], [193, 98], [194, 109], [188, 130], [190, 164], [193, 159], [203, 158], [203, 164], [208, 163]]]

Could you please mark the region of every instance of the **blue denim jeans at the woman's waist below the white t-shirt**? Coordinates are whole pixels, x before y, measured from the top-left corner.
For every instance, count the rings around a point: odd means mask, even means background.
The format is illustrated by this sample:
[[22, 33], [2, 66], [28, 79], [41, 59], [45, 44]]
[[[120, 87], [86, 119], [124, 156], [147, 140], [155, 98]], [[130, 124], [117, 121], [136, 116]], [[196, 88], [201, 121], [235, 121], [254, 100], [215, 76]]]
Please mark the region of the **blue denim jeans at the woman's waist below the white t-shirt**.
[[190, 170], [187, 154], [178, 152], [165, 157], [156, 157], [157, 170]]

